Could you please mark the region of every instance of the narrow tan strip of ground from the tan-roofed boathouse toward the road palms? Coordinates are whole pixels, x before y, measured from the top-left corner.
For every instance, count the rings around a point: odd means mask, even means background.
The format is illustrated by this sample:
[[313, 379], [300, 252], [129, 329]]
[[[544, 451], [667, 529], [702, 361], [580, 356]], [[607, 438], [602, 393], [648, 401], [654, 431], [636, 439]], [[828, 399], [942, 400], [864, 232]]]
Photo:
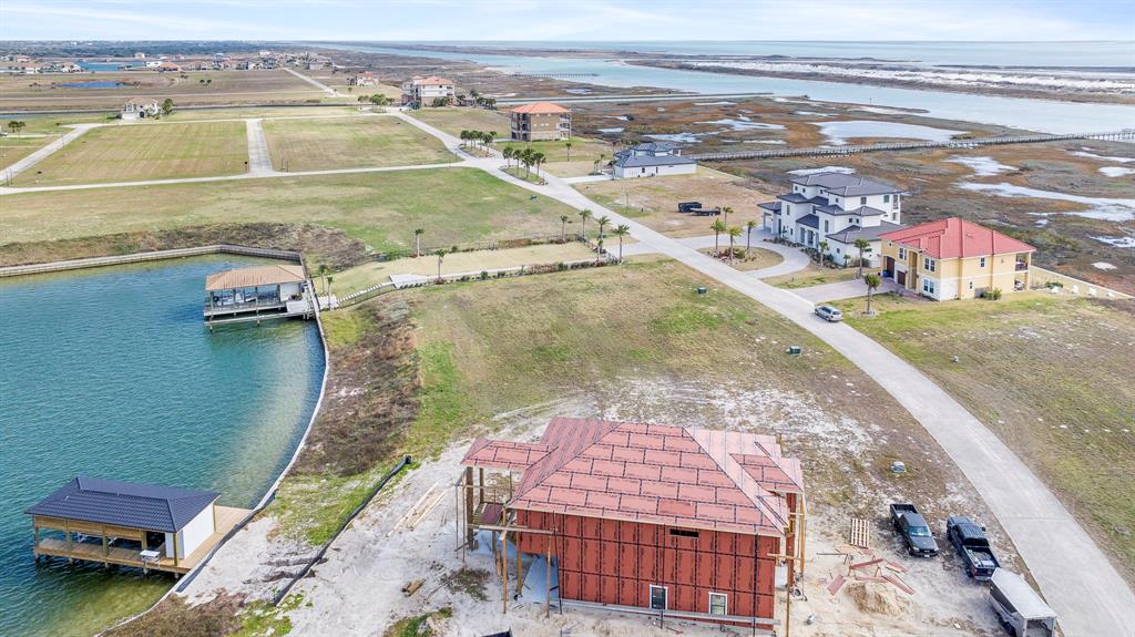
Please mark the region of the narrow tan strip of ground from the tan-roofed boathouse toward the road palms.
[[[580, 243], [548, 244], [501, 250], [459, 252], [442, 261], [442, 274], [479, 273], [484, 270], [581, 261], [595, 256]], [[355, 290], [389, 282], [392, 274], [437, 275], [437, 256], [372, 262], [335, 274], [334, 289], [342, 298]]]

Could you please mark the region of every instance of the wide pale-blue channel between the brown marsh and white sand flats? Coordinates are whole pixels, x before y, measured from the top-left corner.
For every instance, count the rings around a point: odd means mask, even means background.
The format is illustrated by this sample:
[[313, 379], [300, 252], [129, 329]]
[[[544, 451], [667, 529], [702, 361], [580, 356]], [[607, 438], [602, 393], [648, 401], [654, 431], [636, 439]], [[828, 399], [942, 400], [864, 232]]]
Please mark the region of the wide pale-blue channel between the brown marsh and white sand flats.
[[[545, 43], [558, 45], [563, 43]], [[616, 43], [617, 44], [617, 43]], [[840, 43], [844, 45], [846, 43]], [[327, 45], [331, 46], [331, 45]], [[907, 44], [911, 51], [920, 44]], [[974, 44], [980, 48], [980, 44]], [[522, 74], [595, 74], [580, 82], [603, 86], [651, 86], [696, 93], [771, 93], [773, 95], [807, 95], [819, 102], [897, 107], [926, 111], [930, 117], [1009, 126], [1042, 133], [1095, 133], [1135, 126], [1135, 107], [1092, 104], [1054, 100], [994, 97], [945, 91], [888, 88], [880, 86], [756, 77], [692, 70], [675, 70], [624, 63], [619, 59], [564, 58], [536, 56], [489, 56], [453, 53], [360, 44], [336, 44], [334, 48], [378, 53], [412, 54], [447, 60], [471, 60], [505, 73]], [[1067, 48], [1071, 48], [1069, 44]], [[676, 52], [676, 51], [674, 51]], [[1086, 53], [1085, 53], [1086, 54]], [[990, 54], [990, 59], [999, 59]], [[1004, 58], [1008, 59], [1008, 58]]]

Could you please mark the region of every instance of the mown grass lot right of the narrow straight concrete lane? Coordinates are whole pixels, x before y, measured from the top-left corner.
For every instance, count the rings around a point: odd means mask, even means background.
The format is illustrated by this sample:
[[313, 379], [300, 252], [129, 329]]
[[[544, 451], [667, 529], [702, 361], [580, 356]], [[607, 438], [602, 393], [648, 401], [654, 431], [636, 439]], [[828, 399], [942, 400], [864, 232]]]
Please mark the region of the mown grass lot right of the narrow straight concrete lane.
[[277, 170], [445, 163], [456, 158], [435, 137], [393, 117], [280, 119], [263, 124]]

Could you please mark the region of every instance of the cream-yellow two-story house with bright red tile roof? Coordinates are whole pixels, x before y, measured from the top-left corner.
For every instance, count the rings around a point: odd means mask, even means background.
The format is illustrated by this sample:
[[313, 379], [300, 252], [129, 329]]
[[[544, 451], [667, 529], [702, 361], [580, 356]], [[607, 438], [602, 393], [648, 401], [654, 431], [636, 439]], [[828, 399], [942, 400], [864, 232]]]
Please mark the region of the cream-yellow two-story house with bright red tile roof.
[[951, 216], [880, 235], [883, 277], [934, 300], [1028, 289], [1036, 248]]

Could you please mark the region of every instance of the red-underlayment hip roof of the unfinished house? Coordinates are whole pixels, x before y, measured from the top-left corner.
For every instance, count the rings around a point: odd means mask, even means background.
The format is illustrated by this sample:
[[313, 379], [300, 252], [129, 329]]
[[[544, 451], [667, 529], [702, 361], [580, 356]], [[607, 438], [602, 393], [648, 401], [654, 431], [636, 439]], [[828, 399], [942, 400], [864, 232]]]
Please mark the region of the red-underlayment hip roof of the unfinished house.
[[[530, 462], [526, 465], [526, 462]], [[800, 464], [767, 435], [553, 418], [539, 443], [478, 440], [463, 465], [521, 470], [508, 508], [782, 536]]]

